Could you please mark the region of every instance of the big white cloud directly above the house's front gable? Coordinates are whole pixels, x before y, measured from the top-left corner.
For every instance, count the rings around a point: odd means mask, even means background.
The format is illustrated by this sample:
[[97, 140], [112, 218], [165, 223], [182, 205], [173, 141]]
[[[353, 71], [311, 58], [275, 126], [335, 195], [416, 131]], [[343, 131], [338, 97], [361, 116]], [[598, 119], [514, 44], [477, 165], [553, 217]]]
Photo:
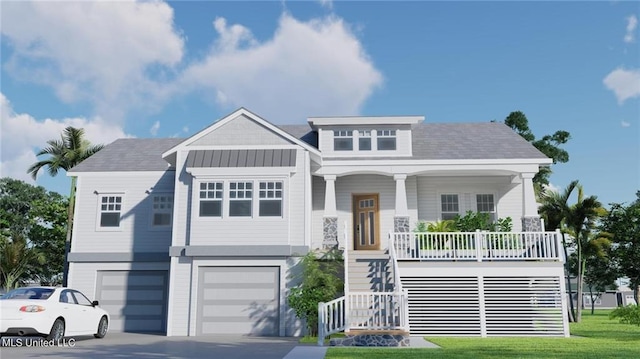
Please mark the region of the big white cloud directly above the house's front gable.
[[219, 38], [211, 52], [185, 70], [177, 88], [203, 89], [229, 109], [244, 106], [276, 123], [358, 114], [383, 81], [348, 24], [335, 16], [302, 22], [285, 13], [264, 42], [221, 18], [214, 28]]

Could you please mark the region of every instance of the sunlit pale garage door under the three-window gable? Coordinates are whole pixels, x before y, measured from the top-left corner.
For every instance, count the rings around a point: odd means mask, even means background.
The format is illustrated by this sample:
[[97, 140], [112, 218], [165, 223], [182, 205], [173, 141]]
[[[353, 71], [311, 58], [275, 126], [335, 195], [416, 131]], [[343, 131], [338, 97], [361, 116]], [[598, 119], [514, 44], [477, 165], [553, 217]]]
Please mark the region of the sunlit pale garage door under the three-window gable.
[[201, 267], [197, 334], [279, 334], [278, 267]]

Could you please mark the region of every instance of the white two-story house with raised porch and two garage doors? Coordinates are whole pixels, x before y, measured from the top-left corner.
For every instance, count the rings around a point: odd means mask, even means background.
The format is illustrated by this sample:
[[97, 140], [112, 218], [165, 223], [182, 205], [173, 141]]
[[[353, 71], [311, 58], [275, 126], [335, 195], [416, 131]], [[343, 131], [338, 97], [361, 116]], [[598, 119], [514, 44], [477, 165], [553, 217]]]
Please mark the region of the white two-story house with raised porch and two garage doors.
[[[239, 109], [187, 139], [117, 140], [69, 172], [69, 285], [112, 330], [298, 335], [286, 298], [301, 256], [338, 246], [347, 297], [408, 293], [412, 333], [568, 335], [532, 183], [551, 160], [501, 123], [423, 120], [276, 126]], [[411, 232], [469, 210], [511, 217], [514, 233]]]

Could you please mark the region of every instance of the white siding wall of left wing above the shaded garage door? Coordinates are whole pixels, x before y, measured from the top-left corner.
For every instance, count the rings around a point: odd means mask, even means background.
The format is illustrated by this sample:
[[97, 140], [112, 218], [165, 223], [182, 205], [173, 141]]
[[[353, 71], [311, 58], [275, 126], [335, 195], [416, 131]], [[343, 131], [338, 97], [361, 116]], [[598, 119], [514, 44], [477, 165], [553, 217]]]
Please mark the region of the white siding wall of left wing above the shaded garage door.
[[[151, 225], [152, 195], [172, 193], [174, 172], [81, 174], [78, 178], [72, 252], [168, 252], [171, 229]], [[99, 196], [122, 196], [120, 226], [99, 228]]]

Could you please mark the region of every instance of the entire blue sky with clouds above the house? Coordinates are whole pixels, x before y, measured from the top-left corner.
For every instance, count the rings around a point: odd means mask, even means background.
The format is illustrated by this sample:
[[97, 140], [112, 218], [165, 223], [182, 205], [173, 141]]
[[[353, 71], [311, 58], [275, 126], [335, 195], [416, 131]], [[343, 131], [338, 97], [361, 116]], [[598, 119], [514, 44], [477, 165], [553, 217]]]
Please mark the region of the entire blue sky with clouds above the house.
[[[637, 2], [1, 2], [2, 176], [67, 125], [95, 143], [187, 137], [236, 108], [567, 130], [604, 203], [640, 189]], [[37, 183], [68, 193], [68, 178]]]

